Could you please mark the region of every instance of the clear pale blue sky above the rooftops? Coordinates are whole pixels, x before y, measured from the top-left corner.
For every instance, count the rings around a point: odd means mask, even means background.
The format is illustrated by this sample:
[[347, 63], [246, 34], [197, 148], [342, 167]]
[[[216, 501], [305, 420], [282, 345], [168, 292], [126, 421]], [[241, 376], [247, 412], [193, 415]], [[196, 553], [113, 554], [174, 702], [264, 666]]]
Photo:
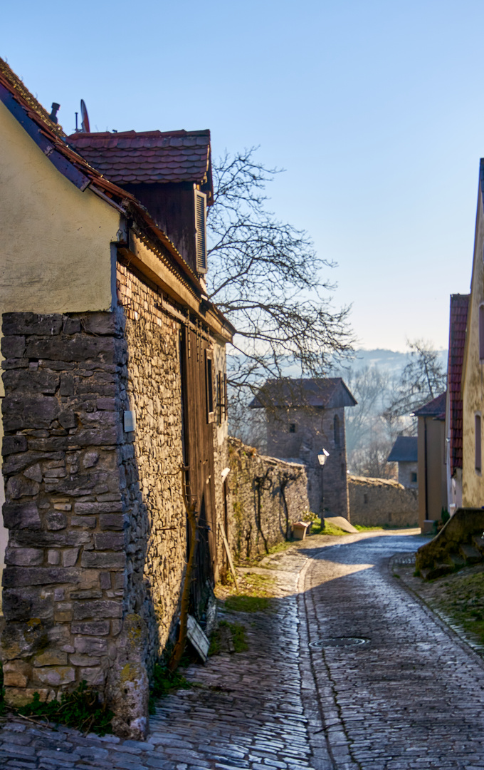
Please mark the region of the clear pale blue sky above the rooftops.
[[336, 262], [359, 346], [445, 349], [469, 292], [484, 156], [474, 0], [85, 0], [2, 8], [0, 55], [59, 122], [258, 146], [270, 208]]

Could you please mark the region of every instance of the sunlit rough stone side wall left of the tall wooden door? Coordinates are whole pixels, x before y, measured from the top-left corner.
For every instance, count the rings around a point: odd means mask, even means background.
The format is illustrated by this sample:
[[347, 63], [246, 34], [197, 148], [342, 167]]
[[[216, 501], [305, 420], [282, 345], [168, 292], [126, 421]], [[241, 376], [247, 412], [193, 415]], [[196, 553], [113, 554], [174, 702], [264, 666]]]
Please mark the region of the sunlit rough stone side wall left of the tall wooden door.
[[180, 322], [161, 310], [156, 286], [120, 264], [118, 302], [126, 318], [126, 408], [136, 414], [127, 469], [130, 506], [137, 511], [128, 544], [128, 609], [141, 612], [148, 624], [151, 669], [167, 642], [174, 641], [187, 553], [180, 474]]

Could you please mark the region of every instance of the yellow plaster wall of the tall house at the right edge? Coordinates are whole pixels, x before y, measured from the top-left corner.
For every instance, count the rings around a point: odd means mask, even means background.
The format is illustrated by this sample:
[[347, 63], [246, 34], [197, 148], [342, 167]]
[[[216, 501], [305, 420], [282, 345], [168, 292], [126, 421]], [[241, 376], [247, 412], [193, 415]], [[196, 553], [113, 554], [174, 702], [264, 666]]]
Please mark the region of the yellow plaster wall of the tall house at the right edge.
[[462, 506], [484, 505], [484, 480], [475, 470], [474, 417], [482, 415], [484, 427], [484, 363], [479, 361], [479, 304], [484, 300], [484, 212], [479, 184], [476, 241], [472, 266], [472, 286], [467, 318], [466, 361], [462, 388]]

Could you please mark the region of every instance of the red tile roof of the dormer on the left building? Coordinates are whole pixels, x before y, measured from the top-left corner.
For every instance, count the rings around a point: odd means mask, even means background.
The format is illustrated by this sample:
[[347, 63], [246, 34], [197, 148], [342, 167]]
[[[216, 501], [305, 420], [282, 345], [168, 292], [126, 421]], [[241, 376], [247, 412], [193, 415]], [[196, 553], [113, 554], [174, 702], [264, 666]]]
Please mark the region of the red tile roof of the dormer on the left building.
[[69, 144], [111, 182], [211, 184], [210, 131], [75, 133]]

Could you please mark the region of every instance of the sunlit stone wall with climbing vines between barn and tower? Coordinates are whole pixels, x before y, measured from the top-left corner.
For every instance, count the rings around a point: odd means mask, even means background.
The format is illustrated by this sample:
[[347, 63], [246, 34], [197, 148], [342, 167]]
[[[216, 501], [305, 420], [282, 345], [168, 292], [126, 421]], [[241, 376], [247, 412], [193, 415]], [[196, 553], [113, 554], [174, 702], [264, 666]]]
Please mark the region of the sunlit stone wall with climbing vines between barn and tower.
[[290, 524], [309, 510], [303, 465], [264, 457], [229, 439], [230, 550], [237, 559], [262, 554], [290, 535]]

